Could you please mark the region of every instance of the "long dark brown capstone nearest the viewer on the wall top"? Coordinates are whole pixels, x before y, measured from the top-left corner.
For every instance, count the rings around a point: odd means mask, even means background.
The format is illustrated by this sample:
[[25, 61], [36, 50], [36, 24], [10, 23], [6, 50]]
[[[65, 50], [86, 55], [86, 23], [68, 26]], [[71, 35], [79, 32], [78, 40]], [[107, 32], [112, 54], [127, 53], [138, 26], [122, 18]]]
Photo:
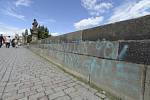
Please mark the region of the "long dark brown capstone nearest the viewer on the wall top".
[[139, 40], [150, 38], [150, 15], [83, 30], [82, 39]]

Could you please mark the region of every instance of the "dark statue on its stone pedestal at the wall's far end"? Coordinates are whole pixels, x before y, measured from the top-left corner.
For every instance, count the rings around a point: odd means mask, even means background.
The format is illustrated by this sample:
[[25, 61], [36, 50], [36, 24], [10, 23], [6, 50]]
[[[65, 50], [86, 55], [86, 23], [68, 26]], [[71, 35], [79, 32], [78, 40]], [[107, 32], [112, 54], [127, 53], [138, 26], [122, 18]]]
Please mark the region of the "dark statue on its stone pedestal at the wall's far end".
[[36, 42], [38, 40], [38, 22], [36, 19], [33, 20], [32, 29], [30, 29], [32, 35], [32, 42]]

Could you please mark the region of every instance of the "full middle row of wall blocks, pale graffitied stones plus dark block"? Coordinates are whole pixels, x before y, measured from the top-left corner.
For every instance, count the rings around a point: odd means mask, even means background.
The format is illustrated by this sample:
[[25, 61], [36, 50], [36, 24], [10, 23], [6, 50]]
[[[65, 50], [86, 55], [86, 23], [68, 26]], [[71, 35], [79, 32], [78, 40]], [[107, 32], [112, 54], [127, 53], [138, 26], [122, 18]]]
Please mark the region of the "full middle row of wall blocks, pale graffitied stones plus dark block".
[[[50, 42], [48, 42], [50, 43]], [[39, 43], [40, 48], [112, 59], [137, 64], [150, 64], [150, 40], [87, 41], [75, 43]]]

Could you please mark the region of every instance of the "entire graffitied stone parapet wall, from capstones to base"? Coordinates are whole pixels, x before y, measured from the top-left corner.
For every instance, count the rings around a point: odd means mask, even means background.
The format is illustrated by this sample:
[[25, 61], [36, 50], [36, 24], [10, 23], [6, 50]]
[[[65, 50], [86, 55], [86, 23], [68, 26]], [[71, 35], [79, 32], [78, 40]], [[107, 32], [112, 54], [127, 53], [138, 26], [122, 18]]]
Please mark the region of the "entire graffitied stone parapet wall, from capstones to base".
[[37, 54], [122, 100], [150, 100], [150, 16], [40, 40]]

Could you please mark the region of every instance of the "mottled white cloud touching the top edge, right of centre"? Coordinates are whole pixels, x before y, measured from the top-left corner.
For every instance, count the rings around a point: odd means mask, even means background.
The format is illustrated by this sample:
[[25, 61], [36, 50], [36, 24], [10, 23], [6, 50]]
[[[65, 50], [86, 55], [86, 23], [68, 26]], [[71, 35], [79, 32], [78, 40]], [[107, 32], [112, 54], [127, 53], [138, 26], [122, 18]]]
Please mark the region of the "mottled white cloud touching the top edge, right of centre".
[[113, 7], [112, 3], [100, 0], [81, 0], [82, 6], [88, 10], [90, 15], [99, 16]]

